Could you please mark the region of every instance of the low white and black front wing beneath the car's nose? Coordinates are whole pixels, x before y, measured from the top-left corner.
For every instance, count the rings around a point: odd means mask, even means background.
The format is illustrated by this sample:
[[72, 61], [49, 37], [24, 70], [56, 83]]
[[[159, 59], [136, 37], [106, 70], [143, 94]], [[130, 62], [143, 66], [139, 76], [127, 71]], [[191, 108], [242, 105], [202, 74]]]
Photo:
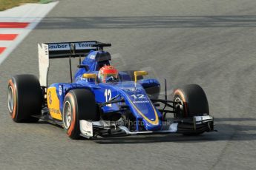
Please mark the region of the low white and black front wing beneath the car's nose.
[[163, 133], [200, 133], [214, 131], [214, 118], [210, 115], [194, 116], [191, 122], [177, 121], [173, 123], [165, 123], [160, 131], [142, 131], [131, 132], [121, 123], [110, 122], [105, 120], [89, 121], [80, 120], [81, 136], [86, 138], [122, 135], [151, 135]]

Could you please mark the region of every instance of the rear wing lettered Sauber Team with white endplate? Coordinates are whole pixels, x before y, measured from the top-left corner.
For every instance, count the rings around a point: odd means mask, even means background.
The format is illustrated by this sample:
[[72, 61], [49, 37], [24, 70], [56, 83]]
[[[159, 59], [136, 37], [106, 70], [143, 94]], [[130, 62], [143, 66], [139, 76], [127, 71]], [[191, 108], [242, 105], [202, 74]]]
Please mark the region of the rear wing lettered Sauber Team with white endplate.
[[41, 86], [47, 86], [47, 75], [50, 60], [54, 58], [83, 57], [91, 50], [103, 50], [111, 44], [103, 44], [99, 41], [77, 41], [38, 44], [39, 54], [39, 81]]

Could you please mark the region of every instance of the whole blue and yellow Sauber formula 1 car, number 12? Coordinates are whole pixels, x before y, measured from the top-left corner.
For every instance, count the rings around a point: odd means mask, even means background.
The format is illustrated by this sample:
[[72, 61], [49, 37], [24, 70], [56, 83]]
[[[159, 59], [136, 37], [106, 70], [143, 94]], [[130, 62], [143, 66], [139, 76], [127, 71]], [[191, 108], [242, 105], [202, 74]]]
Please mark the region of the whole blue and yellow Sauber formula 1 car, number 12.
[[[146, 79], [148, 72], [117, 71], [111, 66], [111, 55], [103, 50], [110, 46], [99, 41], [39, 44], [39, 80], [34, 75], [15, 75], [8, 82], [12, 119], [45, 120], [62, 126], [72, 139], [214, 131], [200, 86], [181, 86], [168, 100], [165, 81], [165, 99], [160, 99], [160, 83]], [[80, 58], [79, 69], [73, 78], [70, 64], [71, 82], [48, 86], [50, 59], [75, 57]], [[170, 113], [171, 119], [166, 117]]]

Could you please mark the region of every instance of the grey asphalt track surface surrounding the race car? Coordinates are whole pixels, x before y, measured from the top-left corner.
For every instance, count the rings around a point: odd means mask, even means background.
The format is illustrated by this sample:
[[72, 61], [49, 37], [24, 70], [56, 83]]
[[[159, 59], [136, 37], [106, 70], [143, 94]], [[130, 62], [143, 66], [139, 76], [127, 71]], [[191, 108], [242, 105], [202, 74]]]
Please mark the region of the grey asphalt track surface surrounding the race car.
[[[256, 1], [60, 1], [0, 66], [1, 169], [256, 169]], [[70, 140], [48, 123], [13, 123], [7, 80], [38, 75], [37, 43], [111, 42], [119, 69], [168, 89], [200, 84], [218, 132]], [[68, 81], [53, 61], [50, 82]]]

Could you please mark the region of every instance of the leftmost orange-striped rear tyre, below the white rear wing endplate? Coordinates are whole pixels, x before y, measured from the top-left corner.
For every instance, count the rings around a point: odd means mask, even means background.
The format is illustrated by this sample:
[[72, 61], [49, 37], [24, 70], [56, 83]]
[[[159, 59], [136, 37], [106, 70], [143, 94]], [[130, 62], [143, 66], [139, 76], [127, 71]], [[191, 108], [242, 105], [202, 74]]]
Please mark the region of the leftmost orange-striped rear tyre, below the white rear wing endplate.
[[36, 76], [15, 75], [8, 81], [8, 110], [13, 121], [36, 122], [42, 109], [42, 89]]

